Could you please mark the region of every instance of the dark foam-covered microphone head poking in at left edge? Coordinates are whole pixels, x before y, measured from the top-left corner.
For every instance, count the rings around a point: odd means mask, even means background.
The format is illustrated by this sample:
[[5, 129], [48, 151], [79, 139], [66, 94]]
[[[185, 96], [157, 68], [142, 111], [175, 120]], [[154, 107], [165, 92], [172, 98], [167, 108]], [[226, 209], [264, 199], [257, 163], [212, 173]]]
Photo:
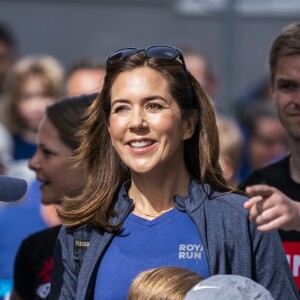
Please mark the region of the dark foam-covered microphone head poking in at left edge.
[[26, 180], [0, 175], [0, 201], [17, 201], [25, 195], [26, 191]]

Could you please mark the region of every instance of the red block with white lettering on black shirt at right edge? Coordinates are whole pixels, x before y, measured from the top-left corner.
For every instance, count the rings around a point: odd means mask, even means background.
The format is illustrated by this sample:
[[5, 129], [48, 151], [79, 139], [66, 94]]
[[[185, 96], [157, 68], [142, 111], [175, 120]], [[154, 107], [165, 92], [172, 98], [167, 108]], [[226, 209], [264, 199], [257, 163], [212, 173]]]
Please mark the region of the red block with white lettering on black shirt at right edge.
[[286, 257], [292, 269], [298, 290], [300, 290], [300, 242], [283, 242]]

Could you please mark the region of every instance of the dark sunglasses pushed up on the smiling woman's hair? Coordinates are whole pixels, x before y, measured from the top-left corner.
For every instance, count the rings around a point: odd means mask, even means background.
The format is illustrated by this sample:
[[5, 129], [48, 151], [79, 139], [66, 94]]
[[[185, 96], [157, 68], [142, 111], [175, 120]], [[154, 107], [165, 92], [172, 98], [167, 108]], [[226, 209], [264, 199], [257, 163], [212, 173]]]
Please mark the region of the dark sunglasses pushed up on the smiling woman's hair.
[[181, 50], [172, 47], [172, 46], [151, 46], [148, 48], [124, 48], [117, 50], [111, 54], [109, 54], [106, 58], [106, 63], [110, 64], [117, 60], [126, 59], [130, 56], [133, 56], [139, 52], [145, 52], [147, 57], [155, 57], [161, 59], [175, 60], [179, 59], [184, 67], [185, 72], [188, 74], [185, 61], [183, 58], [183, 54]]

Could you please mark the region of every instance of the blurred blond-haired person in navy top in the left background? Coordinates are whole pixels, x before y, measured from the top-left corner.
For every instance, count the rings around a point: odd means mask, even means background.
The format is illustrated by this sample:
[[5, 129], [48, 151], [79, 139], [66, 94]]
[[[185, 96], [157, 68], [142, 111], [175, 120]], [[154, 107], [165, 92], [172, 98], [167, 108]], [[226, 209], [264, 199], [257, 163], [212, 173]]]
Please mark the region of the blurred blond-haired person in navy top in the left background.
[[12, 135], [10, 175], [31, 180], [28, 159], [35, 153], [38, 125], [46, 107], [62, 97], [63, 68], [51, 56], [27, 56], [8, 76], [4, 95], [4, 124]]

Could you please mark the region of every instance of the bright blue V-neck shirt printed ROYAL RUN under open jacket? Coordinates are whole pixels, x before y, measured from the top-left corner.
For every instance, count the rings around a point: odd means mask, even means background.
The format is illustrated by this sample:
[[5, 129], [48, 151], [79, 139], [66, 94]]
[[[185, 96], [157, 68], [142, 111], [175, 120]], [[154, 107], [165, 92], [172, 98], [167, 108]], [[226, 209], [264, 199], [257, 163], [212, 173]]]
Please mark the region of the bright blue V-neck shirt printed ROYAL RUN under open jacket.
[[101, 260], [94, 299], [126, 299], [140, 272], [160, 266], [181, 266], [209, 276], [195, 224], [177, 209], [152, 221], [131, 213]]

